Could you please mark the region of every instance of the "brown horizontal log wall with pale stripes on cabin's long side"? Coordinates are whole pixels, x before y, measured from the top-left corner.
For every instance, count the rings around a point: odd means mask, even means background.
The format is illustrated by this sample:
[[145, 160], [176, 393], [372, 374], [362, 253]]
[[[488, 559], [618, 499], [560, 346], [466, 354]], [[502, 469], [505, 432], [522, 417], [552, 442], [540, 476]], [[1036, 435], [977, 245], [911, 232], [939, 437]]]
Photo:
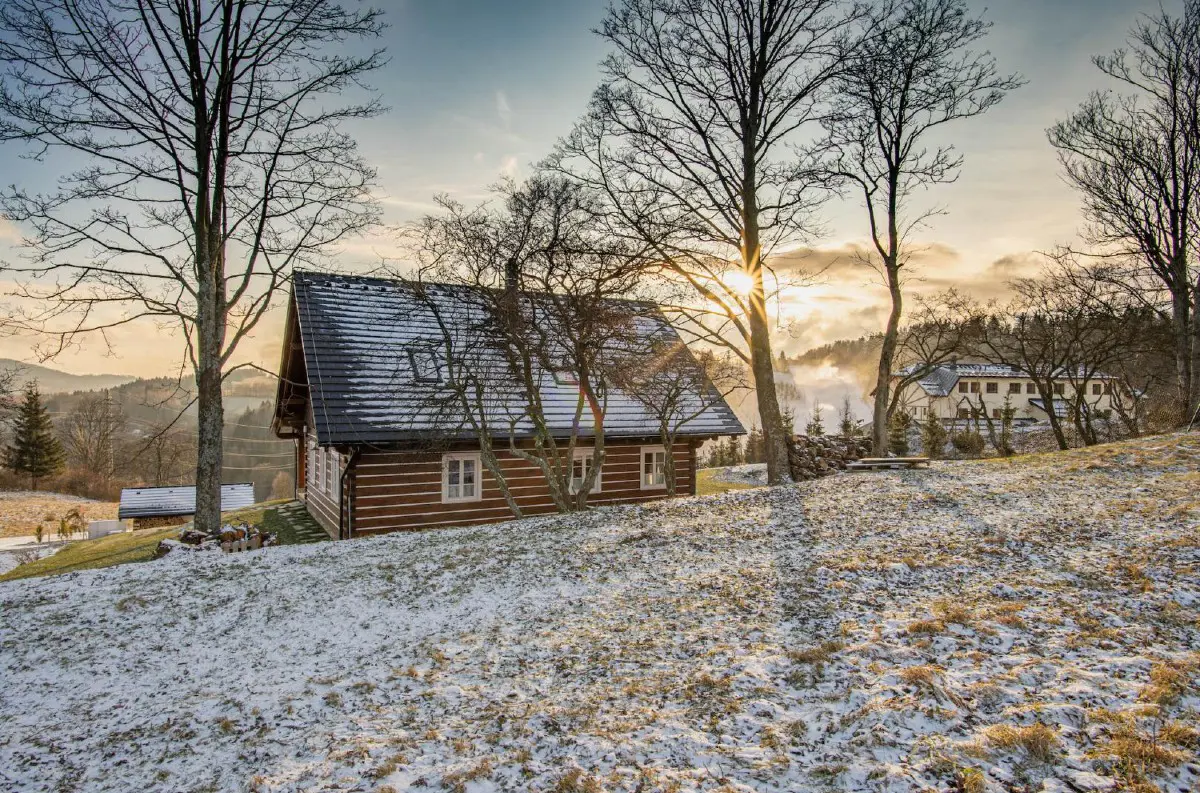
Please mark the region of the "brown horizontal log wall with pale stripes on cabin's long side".
[[[642, 489], [642, 446], [605, 445], [600, 492], [588, 497], [594, 506], [630, 504], [666, 498], [666, 489]], [[474, 451], [464, 449], [462, 451]], [[556, 511], [541, 470], [508, 451], [497, 452], [509, 489], [527, 515]], [[677, 493], [695, 491], [694, 453], [689, 444], [674, 446]], [[354, 465], [354, 534], [403, 529], [467, 525], [512, 519], [496, 479], [482, 464], [482, 492], [478, 501], [442, 503], [442, 455], [420, 452], [362, 452]]]

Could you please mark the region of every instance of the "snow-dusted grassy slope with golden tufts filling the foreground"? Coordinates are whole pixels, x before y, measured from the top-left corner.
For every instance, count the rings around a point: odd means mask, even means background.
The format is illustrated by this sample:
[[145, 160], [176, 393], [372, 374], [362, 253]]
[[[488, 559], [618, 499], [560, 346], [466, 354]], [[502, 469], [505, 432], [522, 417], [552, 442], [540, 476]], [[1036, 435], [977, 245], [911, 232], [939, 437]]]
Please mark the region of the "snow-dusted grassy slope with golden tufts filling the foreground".
[[1194, 791], [1198, 471], [1176, 435], [0, 583], [0, 788]]

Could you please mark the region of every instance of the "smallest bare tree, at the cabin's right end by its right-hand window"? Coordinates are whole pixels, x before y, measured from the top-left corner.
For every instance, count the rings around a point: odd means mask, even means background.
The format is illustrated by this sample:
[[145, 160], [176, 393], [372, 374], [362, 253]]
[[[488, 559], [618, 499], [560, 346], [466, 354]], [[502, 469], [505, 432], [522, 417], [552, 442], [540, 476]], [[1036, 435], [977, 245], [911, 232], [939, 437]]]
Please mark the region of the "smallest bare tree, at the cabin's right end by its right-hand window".
[[678, 335], [664, 331], [614, 370], [614, 382], [658, 422], [666, 450], [667, 494], [676, 494], [674, 444], [679, 432], [734, 391], [749, 388], [746, 368], [731, 355], [702, 350], [692, 355]]

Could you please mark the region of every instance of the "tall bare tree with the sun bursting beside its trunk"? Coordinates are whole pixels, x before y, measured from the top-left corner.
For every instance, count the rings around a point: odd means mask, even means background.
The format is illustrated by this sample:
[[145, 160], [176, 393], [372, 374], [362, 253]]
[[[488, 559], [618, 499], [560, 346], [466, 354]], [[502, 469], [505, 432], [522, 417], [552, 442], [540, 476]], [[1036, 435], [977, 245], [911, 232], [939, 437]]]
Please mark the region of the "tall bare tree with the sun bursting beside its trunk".
[[804, 131], [839, 68], [840, 0], [625, 0], [614, 53], [552, 164], [607, 196], [618, 227], [686, 287], [677, 310], [751, 367], [768, 481], [791, 481], [764, 271], [826, 199]]

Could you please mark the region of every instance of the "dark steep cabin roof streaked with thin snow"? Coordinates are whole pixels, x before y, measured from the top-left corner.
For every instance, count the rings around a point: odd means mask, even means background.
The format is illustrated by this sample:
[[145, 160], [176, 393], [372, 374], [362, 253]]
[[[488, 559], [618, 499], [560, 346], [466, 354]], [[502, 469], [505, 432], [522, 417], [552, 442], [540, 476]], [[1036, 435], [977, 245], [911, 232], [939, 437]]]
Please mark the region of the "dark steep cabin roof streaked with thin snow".
[[[419, 290], [419, 292], [418, 292]], [[388, 444], [427, 440], [431, 437], [473, 437], [468, 417], [445, 407], [452, 395], [446, 380], [445, 336], [439, 323], [469, 326], [479, 320], [479, 289], [450, 284], [414, 284], [358, 276], [296, 272], [289, 306], [284, 362], [276, 403], [277, 431], [306, 410], [317, 443]], [[535, 301], [536, 296], [523, 298]], [[632, 311], [632, 343], [652, 361], [652, 343], [682, 344], [661, 311], [653, 304], [614, 301]], [[474, 316], [473, 316], [473, 312]], [[545, 332], [545, 328], [540, 329]], [[473, 354], [494, 355], [499, 346], [481, 340]], [[290, 358], [289, 358], [290, 356]], [[496, 371], [503, 371], [503, 365]], [[554, 434], [572, 431], [578, 384], [564, 372], [538, 371], [539, 395], [547, 423]], [[523, 395], [497, 377], [488, 384], [487, 417], [499, 433], [528, 437], [533, 426], [523, 415]], [[653, 413], [632, 396], [610, 386], [605, 395], [605, 435], [647, 437], [658, 434]], [[680, 437], [744, 434], [728, 404], [713, 395], [692, 395], [700, 415], [679, 431]], [[440, 407], [431, 408], [438, 403]], [[707, 403], [707, 407], [706, 407]], [[288, 413], [288, 411], [293, 413]], [[684, 411], [680, 410], [680, 414]], [[510, 429], [511, 427], [511, 429]], [[580, 437], [593, 434], [592, 416], [583, 411]]]

